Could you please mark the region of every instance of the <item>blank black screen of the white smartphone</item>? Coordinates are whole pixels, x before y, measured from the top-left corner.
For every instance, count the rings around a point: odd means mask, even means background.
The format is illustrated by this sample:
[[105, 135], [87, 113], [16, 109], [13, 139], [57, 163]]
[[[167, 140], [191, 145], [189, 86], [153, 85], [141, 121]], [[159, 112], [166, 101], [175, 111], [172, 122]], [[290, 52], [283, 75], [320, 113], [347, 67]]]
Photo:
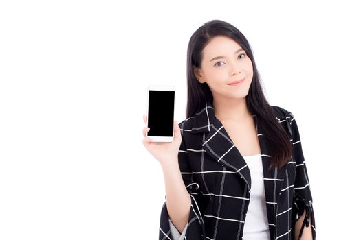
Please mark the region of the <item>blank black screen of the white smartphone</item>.
[[173, 136], [175, 91], [149, 91], [148, 136]]

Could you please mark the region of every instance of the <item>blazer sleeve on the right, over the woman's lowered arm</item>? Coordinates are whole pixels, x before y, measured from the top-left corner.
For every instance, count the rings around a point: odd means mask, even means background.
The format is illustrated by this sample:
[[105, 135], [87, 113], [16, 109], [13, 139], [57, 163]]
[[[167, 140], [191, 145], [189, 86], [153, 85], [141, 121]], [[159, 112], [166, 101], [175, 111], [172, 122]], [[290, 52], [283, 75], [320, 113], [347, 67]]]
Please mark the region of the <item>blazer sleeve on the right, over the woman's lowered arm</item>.
[[287, 121], [288, 128], [292, 134], [292, 152], [294, 161], [296, 161], [296, 179], [294, 182], [294, 197], [292, 208], [292, 226], [300, 219], [305, 211], [305, 219], [303, 226], [300, 229], [300, 239], [303, 228], [311, 224], [312, 238], [316, 239], [316, 225], [314, 219], [314, 207], [312, 205], [311, 188], [309, 185], [309, 178], [305, 158], [300, 140], [300, 132], [298, 131], [297, 123], [292, 112], [289, 112], [290, 119]]

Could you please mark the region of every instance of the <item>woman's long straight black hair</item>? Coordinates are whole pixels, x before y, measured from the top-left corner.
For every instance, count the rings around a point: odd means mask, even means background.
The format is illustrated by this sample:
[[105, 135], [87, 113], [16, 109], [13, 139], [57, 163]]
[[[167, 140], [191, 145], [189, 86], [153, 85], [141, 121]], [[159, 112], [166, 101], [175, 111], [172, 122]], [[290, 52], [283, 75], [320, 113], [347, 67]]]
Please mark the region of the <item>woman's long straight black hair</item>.
[[188, 99], [186, 118], [192, 117], [196, 112], [204, 108], [206, 101], [213, 101], [212, 91], [206, 82], [201, 84], [197, 81], [193, 72], [193, 66], [200, 68], [203, 58], [202, 51], [215, 36], [228, 36], [236, 41], [245, 50], [253, 65], [253, 79], [248, 95], [245, 96], [247, 108], [253, 115], [257, 115], [259, 128], [265, 132], [267, 142], [270, 144], [271, 166], [281, 168], [287, 164], [292, 156], [292, 145], [289, 136], [281, 124], [274, 117], [272, 106], [268, 104], [262, 90], [252, 49], [245, 36], [233, 25], [221, 20], [212, 20], [204, 23], [190, 37], [187, 50], [187, 87]]

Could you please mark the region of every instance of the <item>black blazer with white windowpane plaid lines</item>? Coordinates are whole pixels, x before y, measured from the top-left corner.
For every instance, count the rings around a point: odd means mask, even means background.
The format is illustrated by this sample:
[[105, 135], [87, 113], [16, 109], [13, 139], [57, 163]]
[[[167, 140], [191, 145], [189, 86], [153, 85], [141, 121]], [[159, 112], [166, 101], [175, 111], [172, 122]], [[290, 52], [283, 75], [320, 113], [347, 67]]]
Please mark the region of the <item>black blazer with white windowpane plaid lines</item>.
[[[316, 239], [314, 209], [303, 158], [300, 134], [292, 112], [272, 106], [278, 122], [289, 133], [292, 158], [280, 169], [268, 169], [270, 153], [263, 132], [256, 131], [261, 147], [265, 204], [271, 240], [294, 239], [294, 224], [306, 211], [304, 224]], [[179, 123], [182, 143], [178, 160], [192, 204], [186, 240], [242, 239], [252, 182], [250, 169], [232, 143], [208, 100], [206, 106]], [[160, 215], [159, 239], [172, 239], [166, 202]]]

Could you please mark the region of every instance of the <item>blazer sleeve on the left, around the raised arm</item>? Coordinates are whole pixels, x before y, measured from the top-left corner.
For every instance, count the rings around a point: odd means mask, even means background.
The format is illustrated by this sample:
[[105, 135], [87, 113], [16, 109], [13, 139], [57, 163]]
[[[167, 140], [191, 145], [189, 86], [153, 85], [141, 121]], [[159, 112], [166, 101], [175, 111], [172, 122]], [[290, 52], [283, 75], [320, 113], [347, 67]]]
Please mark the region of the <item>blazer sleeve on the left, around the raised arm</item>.
[[[186, 229], [184, 230], [185, 232], [184, 236], [187, 240], [206, 239], [205, 237], [206, 234], [204, 229], [204, 219], [202, 217], [206, 205], [204, 203], [205, 198], [204, 195], [201, 194], [201, 191], [199, 189], [199, 184], [195, 182], [195, 180], [193, 179], [194, 176], [192, 169], [190, 169], [188, 152], [187, 152], [186, 144], [184, 142], [183, 134], [182, 134], [182, 143], [179, 147], [178, 163], [179, 163], [179, 169], [182, 173], [184, 185], [188, 191], [188, 194], [190, 195], [190, 200], [191, 200], [188, 224], [186, 226]], [[173, 233], [175, 233], [176, 237], [179, 237], [176, 232], [173, 231]], [[169, 218], [168, 210], [166, 208], [166, 201], [164, 202], [160, 213], [160, 232], [159, 232], [159, 240], [165, 240], [165, 239], [178, 240], [178, 239], [174, 239], [171, 231], [171, 219]]]

